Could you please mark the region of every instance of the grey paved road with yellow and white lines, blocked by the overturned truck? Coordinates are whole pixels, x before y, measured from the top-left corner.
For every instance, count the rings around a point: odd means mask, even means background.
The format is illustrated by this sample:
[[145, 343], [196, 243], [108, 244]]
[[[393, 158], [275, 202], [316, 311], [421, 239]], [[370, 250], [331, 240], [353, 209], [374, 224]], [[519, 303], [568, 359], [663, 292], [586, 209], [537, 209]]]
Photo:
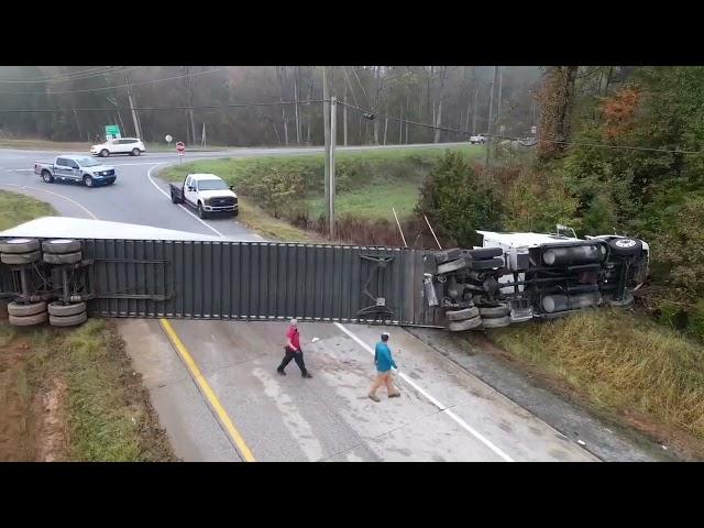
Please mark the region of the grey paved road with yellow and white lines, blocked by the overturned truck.
[[[279, 155], [316, 150], [246, 148], [194, 158]], [[231, 219], [201, 221], [174, 206], [150, 170], [174, 155], [113, 157], [112, 187], [44, 184], [35, 160], [57, 153], [0, 151], [0, 188], [50, 201], [64, 216], [127, 221], [238, 240], [261, 240]], [[160, 190], [161, 189], [161, 190]], [[304, 323], [314, 380], [296, 365], [279, 377], [285, 324], [276, 322], [119, 322], [162, 426], [184, 460], [239, 461], [591, 461], [587, 451], [399, 328], [391, 329], [403, 397], [365, 397], [370, 346], [380, 327]], [[316, 343], [314, 337], [319, 338]]]

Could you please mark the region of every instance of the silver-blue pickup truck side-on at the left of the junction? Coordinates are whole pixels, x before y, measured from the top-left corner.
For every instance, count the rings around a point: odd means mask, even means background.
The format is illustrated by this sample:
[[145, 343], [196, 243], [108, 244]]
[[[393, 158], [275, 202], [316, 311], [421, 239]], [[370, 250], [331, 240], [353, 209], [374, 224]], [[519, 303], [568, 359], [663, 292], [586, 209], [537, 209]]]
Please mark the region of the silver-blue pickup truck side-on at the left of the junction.
[[70, 180], [84, 184], [86, 187], [97, 185], [112, 185], [118, 177], [114, 167], [109, 167], [82, 155], [66, 154], [56, 156], [54, 163], [34, 162], [34, 174], [47, 184], [55, 180]]

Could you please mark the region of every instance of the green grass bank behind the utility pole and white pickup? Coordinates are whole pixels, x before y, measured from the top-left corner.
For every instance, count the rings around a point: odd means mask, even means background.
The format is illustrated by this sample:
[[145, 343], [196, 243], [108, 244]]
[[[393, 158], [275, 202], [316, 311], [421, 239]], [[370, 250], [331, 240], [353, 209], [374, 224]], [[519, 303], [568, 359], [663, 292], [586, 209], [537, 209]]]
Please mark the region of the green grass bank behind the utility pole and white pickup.
[[[418, 201], [421, 183], [448, 148], [464, 152], [469, 157], [483, 152], [482, 147], [471, 145], [338, 152], [337, 216], [393, 221], [391, 208], [394, 207], [399, 219], [407, 219]], [[323, 164], [323, 154], [245, 157], [187, 163], [168, 167], [160, 175], [170, 182], [183, 182], [189, 173], [212, 173], [234, 185], [241, 195], [262, 205], [270, 213], [276, 212], [294, 220], [293, 216], [305, 212], [309, 218], [317, 219], [324, 207]], [[273, 174], [301, 190], [301, 194], [286, 196], [284, 199], [292, 207], [284, 207], [279, 211], [273, 211], [266, 200], [258, 196], [257, 184]], [[244, 216], [242, 220], [246, 220]]]

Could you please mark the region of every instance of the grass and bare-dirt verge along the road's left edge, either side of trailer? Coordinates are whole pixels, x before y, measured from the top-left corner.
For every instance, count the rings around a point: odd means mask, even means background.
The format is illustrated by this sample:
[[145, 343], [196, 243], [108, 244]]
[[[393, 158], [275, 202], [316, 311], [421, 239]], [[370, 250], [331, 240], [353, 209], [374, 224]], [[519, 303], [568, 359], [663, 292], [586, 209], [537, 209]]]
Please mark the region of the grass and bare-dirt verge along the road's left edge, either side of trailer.
[[[1, 229], [52, 213], [38, 200], [0, 191]], [[56, 329], [0, 320], [0, 461], [43, 460], [174, 460], [109, 322]]]

